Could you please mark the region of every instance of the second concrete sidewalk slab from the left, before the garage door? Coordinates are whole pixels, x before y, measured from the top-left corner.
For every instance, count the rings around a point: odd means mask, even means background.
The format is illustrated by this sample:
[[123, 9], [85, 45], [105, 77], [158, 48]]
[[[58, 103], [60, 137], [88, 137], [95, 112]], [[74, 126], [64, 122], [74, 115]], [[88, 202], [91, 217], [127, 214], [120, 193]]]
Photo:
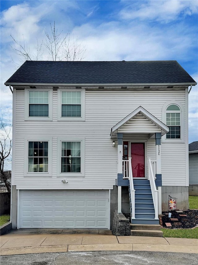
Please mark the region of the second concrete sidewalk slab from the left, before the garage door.
[[83, 235], [81, 234], [58, 234], [58, 235], [51, 235], [47, 237], [42, 246], [50, 246], [50, 245], [69, 245], [69, 244], [81, 244], [83, 239]]

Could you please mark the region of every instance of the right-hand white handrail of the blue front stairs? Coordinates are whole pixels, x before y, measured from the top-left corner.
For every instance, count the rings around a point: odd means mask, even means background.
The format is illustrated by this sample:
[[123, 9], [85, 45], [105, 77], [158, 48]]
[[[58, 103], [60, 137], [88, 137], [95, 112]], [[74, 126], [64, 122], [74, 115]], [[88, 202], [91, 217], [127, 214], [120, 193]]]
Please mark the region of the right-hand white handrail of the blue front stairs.
[[155, 178], [153, 174], [151, 158], [148, 158], [148, 161], [149, 161], [149, 181], [150, 181], [151, 192], [152, 192], [152, 197], [153, 197], [153, 204], [155, 208], [155, 219], [158, 219], [158, 190], [156, 189], [156, 185], [155, 185]]

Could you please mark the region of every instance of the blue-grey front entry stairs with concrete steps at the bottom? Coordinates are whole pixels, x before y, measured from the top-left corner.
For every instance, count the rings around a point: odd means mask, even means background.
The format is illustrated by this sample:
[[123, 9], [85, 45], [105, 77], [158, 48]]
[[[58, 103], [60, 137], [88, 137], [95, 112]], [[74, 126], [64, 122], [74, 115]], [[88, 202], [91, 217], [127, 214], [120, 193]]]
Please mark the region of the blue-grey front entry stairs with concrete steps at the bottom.
[[[135, 190], [135, 219], [131, 219], [131, 235], [163, 236], [159, 219], [155, 219], [155, 209], [149, 180], [133, 179]], [[131, 196], [129, 185], [129, 199]]]

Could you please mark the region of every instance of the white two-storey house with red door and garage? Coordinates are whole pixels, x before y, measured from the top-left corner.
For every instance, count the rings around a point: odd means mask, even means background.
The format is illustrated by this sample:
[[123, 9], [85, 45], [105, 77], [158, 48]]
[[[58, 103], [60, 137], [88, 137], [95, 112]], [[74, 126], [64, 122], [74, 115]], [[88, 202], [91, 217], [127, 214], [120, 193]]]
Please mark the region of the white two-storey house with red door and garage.
[[114, 211], [157, 224], [169, 194], [188, 208], [196, 82], [178, 62], [26, 61], [5, 85], [13, 228], [110, 229]]

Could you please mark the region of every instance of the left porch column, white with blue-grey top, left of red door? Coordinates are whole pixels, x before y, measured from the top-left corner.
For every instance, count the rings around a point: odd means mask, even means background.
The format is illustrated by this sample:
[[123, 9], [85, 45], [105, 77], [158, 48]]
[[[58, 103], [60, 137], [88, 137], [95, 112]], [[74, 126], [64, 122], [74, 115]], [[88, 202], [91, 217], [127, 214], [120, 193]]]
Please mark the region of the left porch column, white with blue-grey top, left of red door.
[[[123, 134], [118, 133], [118, 176], [123, 177]], [[118, 186], [118, 213], [122, 213], [122, 187]]]

